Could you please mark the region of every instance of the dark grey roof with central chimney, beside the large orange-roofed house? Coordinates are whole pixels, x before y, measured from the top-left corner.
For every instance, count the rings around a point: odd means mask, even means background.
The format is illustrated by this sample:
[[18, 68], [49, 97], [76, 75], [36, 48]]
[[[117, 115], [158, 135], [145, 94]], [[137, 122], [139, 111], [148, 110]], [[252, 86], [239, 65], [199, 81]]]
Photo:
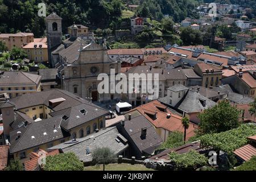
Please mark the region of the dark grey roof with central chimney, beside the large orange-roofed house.
[[[147, 129], [146, 138], [141, 137], [141, 129], [143, 128]], [[154, 126], [152, 126], [143, 115], [138, 115], [135, 113], [133, 114], [131, 121], [126, 119], [124, 129], [141, 152], [144, 151], [147, 152], [147, 154], [152, 154], [163, 142], [163, 140], [155, 132]]]

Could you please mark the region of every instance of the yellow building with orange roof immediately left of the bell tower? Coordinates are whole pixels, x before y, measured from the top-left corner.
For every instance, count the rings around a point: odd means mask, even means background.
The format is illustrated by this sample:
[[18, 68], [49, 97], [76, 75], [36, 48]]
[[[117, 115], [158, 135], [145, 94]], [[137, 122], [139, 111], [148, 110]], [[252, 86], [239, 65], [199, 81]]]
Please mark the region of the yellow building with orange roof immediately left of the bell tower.
[[28, 43], [22, 47], [27, 53], [27, 58], [42, 63], [48, 61], [47, 38], [34, 39], [34, 42]]

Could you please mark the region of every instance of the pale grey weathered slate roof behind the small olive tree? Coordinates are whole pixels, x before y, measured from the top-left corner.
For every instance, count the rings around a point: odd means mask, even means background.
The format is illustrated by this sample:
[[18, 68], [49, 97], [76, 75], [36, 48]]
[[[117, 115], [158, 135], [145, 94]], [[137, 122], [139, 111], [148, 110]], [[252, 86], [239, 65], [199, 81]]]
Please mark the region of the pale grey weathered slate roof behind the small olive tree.
[[[120, 138], [125, 141], [122, 142]], [[92, 154], [86, 154], [86, 148], [93, 152], [96, 148], [109, 147], [115, 155], [118, 155], [129, 146], [127, 140], [118, 133], [117, 127], [108, 127], [84, 138], [77, 138], [76, 141], [69, 140], [47, 150], [61, 149], [64, 153], [74, 152], [80, 160], [89, 162], [92, 161]]]

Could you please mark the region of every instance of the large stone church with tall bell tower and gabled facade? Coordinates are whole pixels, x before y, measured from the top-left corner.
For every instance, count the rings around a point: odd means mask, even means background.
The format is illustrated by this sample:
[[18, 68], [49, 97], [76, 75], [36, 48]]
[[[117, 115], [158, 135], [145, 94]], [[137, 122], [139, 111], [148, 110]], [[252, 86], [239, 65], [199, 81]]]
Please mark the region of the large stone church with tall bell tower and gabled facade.
[[61, 18], [55, 13], [46, 17], [49, 60], [53, 68], [58, 69], [61, 86], [64, 90], [76, 94], [81, 98], [90, 98], [94, 102], [108, 102], [118, 100], [120, 94], [99, 94], [97, 80], [100, 73], [110, 76], [110, 69], [115, 74], [121, 72], [121, 61], [112, 60], [108, 56], [108, 48], [92, 40], [85, 41], [77, 36], [77, 26], [72, 26], [71, 37], [62, 40]]

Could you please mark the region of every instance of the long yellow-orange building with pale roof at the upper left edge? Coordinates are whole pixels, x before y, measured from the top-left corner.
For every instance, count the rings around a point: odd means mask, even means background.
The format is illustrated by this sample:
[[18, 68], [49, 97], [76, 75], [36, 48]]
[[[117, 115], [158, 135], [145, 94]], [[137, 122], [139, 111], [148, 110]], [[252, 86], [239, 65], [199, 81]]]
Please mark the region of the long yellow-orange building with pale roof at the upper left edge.
[[23, 32], [16, 34], [0, 34], [0, 41], [6, 44], [8, 50], [11, 50], [13, 47], [22, 48], [22, 46], [34, 42], [34, 34]]

